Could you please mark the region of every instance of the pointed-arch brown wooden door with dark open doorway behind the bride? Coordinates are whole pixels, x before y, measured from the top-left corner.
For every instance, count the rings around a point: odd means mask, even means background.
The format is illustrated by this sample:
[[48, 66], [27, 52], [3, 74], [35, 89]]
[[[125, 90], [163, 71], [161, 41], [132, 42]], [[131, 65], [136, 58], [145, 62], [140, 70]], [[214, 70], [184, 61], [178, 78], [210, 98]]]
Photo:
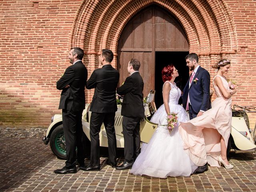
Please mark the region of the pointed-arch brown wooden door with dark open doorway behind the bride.
[[141, 62], [144, 95], [151, 89], [156, 90], [155, 102], [158, 107], [162, 104], [162, 68], [174, 64], [185, 82], [188, 69], [184, 57], [188, 51], [188, 40], [178, 20], [163, 8], [149, 6], [138, 12], [120, 35], [117, 60], [119, 84], [128, 76], [130, 59], [137, 58]]

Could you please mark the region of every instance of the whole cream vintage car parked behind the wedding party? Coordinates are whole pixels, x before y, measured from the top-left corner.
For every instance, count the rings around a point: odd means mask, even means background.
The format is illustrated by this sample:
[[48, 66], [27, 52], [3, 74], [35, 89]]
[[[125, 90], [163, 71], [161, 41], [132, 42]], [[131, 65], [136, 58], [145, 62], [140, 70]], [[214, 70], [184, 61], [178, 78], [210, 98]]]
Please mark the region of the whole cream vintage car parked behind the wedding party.
[[[149, 118], [154, 113], [155, 108], [152, 107], [151, 102], [154, 98], [154, 91], [151, 91], [147, 98], [145, 99], [145, 117], [140, 122], [140, 137], [142, 142], [148, 142], [152, 137], [152, 134], [156, 130], [158, 124], [150, 122]], [[116, 130], [116, 144], [118, 148], [124, 148], [124, 136], [122, 133], [122, 119], [121, 116], [121, 107], [118, 105], [118, 110], [116, 111], [115, 116], [115, 130]], [[232, 110], [232, 127], [230, 138], [228, 142], [227, 153], [247, 153], [255, 152], [256, 149], [256, 124], [254, 132], [249, 128], [248, 116], [246, 112], [256, 112], [256, 108], [253, 106], [250, 107], [241, 107], [238, 105], [234, 106], [235, 108], [240, 108], [240, 110]], [[82, 125], [86, 137], [90, 140], [90, 105], [86, 104], [86, 107], [82, 114]], [[242, 109], [242, 110], [241, 110]], [[251, 135], [252, 134], [252, 135]], [[47, 129], [46, 136], [43, 138], [44, 144], [48, 144], [50, 141], [50, 147], [52, 152], [60, 159], [66, 158], [66, 149], [65, 149], [65, 138], [63, 133], [62, 126], [62, 115], [56, 114], [52, 117], [52, 123]], [[100, 146], [107, 147], [108, 140], [106, 135], [106, 130], [102, 124], [100, 130]]]

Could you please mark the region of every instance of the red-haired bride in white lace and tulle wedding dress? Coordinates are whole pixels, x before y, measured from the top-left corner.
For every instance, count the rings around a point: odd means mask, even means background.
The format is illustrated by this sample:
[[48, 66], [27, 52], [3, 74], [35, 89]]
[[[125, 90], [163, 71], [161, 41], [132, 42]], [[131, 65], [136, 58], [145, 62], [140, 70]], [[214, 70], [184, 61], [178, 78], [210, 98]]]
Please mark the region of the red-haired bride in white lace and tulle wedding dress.
[[178, 104], [181, 91], [174, 83], [177, 76], [179, 76], [178, 70], [172, 64], [162, 70], [164, 104], [158, 108], [150, 120], [157, 123], [158, 128], [150, 142], [142, 144], [141, 153], [130, 170], [130, 173], [134, 175], [160, 178], [190, 176], [197, 168], [183, 150], [183, 141], [178, 132], [178, 124], [172, 132], [169, 132], [166, 126], [161, 126], [167, 124], [169, 112], [177, 114], [178, 123], [189, 120], [184, 108]]

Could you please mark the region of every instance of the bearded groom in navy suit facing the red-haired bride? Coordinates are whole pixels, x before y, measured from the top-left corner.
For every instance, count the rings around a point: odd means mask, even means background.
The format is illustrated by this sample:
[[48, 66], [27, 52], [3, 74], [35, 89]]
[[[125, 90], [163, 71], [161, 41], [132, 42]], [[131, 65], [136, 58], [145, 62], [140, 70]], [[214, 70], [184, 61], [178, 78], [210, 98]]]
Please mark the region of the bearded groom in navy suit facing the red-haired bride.
[[192, 73], [183, 90], [182, 105], [193, 119], [210, 108], [210, 74], [199, 65], [197, 54], [190, 53], [185, 59]]

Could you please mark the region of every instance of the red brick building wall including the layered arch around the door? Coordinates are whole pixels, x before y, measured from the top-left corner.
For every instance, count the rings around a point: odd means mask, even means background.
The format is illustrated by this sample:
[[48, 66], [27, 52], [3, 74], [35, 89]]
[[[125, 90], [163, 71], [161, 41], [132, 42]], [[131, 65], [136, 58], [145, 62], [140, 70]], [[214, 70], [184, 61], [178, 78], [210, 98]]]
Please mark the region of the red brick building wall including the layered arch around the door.
[[[254, 0], [0, 0], [0, 125], [48, 126], [60, 113], [56, 81], [70, 65], [69, 49], [86, 51], [90, 75], [99, 66], [101, 49], [117, 56], [124, 26], [151, 4], [180, 21], [190, 52], [200, 55], [212, 77], [212, 64], [231, 60], [228, 78], [241, 82], [233, 104], [256, 105]], [[112, 64], [116, 67], [116, 57]], [[87, 102], [92, 94], [86, 91]]]

